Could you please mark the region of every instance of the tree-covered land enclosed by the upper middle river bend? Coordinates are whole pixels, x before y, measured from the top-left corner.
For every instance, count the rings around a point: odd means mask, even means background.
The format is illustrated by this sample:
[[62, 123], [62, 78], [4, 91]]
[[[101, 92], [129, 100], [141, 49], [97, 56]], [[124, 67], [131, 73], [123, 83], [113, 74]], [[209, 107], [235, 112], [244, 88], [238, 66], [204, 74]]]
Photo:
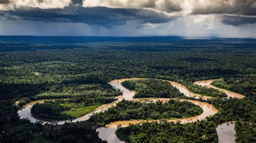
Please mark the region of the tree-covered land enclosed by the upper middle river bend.
[[124, 87], [130, 90], [135, 90], [134, 98], [147, 97], [163, 97], [176, 98], [184, 95], [178, 89], [172, 87], [169, 82], [147, 79], [147, 80], [129, 80], [121, 83]]

